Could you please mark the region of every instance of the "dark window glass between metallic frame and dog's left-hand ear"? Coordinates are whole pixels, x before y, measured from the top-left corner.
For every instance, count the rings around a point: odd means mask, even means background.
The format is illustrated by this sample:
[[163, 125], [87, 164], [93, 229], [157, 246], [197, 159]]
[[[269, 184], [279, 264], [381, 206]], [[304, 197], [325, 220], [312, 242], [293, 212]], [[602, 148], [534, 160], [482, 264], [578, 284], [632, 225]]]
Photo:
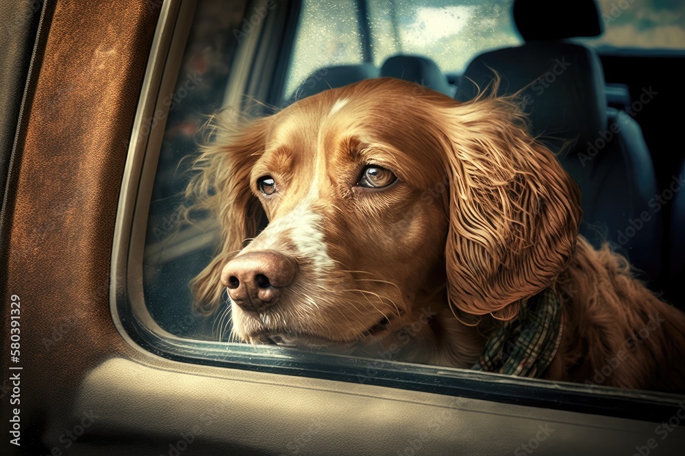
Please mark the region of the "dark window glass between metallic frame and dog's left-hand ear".
[[212, 333], [212, 321], [192, 314], [188, 306], [188, 282], [212, 252], [212, 231], [180, 223], [179, 209], [199, 130], [223, 105], [236, 50], [245, 39], [242, 34], [251, 30], [250, 16], [256, 13], [247, 10], [247, 3], [198, 3], [175, 88], [162, 97], [162, 108], [150, 120], [153, 129], [165, 127], [145, 235], [143, 290], [151, 317], [175, 336], [209, 338]]

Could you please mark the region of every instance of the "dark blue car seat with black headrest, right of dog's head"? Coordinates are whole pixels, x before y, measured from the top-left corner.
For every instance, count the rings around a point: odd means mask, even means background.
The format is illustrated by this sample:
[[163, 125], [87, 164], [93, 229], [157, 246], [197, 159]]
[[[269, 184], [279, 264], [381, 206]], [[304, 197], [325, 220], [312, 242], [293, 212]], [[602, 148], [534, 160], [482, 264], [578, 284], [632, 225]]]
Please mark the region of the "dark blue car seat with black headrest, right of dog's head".
[[[580, 185], [581, 234], [597, 247], [611, 241], [654, 284], [662, 212], [650, 205], [658, 187], [645, 139], [629, 113], [608, 107], [597, 53], [564, 40], [601, 32], [594, 1], [516, 0], [513, 9], [525, 44], [475, 57], [456, 98], [473, 98], [497, 72], [498, 94], [519, 94], [532, 133]], [[547, 16], [562, 19], [552, 27]]]

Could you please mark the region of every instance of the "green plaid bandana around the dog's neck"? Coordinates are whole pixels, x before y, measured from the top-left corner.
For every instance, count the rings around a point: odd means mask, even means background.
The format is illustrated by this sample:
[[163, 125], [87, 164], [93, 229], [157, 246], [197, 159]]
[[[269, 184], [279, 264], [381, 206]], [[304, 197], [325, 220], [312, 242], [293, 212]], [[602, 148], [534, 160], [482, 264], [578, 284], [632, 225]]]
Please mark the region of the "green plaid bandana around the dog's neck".
[[488, 339], [473, 370], [540, 377], [559, 348], [562, 323], [561, 302], [545, 289], [523, 301], [519, 317]]

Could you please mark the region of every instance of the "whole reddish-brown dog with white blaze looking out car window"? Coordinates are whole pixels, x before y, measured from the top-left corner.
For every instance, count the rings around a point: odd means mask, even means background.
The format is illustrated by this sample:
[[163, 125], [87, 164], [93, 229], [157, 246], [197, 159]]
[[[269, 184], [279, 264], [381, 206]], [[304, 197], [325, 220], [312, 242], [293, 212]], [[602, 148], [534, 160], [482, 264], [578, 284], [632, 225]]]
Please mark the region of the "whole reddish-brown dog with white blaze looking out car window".
[[186, 197], [221, 225], [195, 310], [253, 344], [685, 390], [685, 314], [579, 235], [515, 97], [393, 78], [214, 122]]

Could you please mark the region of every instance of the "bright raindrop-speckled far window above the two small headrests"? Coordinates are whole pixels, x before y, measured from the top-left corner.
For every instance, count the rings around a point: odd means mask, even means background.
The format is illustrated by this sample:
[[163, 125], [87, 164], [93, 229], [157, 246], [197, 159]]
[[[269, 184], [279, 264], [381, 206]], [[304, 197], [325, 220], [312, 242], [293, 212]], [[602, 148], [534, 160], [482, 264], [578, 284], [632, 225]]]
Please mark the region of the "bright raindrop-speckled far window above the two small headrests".
[[[326, 68], [364, 62], [359, 2], [303, 1], [284, 90], [286, 100]], [[380, 68], [396, 54], [425, 55], [445, 73], [461, 73], [479, 51], [519, 44], [509, 0], [369, 0], [369, 62]]]

